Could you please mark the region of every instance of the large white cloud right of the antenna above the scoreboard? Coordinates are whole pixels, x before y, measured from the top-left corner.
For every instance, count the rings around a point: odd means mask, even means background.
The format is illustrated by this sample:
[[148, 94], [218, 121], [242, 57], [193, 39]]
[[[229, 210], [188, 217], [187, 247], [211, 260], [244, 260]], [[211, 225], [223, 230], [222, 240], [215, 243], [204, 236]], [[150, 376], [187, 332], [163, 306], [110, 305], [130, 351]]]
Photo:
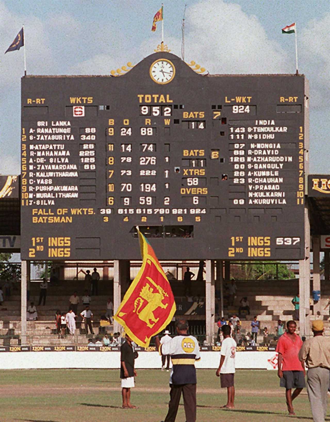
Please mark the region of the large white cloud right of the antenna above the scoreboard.
[[185, 56], [210, 73], [289, 73], [286, 52], [240, 5], [204, 0], [186, 11]]

